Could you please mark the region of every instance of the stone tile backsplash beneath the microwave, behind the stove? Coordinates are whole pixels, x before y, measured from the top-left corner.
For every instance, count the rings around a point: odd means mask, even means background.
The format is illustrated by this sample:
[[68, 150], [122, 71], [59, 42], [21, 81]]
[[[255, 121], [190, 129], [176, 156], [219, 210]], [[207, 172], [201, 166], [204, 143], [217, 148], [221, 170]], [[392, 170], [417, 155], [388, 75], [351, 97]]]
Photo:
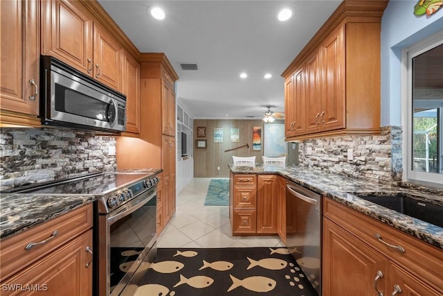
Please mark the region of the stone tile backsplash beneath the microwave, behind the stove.
[[116, 169], [116, 139], [64, 128], [1, 128], [1, 190]]

